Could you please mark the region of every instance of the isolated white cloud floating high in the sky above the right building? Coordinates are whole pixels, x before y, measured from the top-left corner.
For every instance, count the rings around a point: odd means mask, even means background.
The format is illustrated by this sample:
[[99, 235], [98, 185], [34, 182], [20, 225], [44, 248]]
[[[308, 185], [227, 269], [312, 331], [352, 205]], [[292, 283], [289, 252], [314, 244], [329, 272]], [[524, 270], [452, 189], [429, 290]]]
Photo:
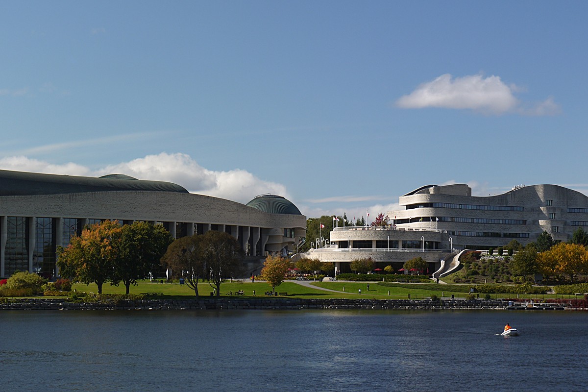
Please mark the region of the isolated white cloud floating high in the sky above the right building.
[[515, 93], [524, 89], [507, 85], [499, 76], [467, 75], [453, 78], [446, 73], [433, 81], [422, 83], [409, 95], [396, 100], [396, 106], [405, 109], [445, 108], [470, 109], [477, 112], [500, 115], [520, 113], [545, 116], [559, 113], [559, 105], [553, 98], [534, 105], [523, 105]]

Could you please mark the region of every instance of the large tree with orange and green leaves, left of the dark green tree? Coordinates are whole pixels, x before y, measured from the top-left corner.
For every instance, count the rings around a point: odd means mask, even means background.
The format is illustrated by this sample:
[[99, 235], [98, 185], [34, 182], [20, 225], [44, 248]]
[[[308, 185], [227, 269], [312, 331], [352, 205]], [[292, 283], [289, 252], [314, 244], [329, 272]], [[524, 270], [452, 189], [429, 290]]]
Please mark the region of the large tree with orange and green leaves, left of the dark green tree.
[[121, 230], [118, 221], [105, 220], [85, 227], [82, 235], [72, 237], [65, 249], [59, 246], [56, 264], [61, 276], [96, 283], [98, 294], [102, 294], [102, 284], [112, 279]]

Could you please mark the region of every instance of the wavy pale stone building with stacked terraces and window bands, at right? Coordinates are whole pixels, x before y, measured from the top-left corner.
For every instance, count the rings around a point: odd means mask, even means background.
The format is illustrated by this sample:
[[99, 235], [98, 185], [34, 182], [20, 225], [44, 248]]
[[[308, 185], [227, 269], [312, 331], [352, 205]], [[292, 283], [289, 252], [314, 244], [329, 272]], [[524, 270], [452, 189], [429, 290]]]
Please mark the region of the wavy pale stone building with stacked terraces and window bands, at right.
[[404, 209], [389, 211], [389, 226], [336, 227], [330, 242], [308, 257], [346, 262], [371, 257], [378, 266], [399, 266], [423, 257], [430, 272], [455, 250], [496, 249], [515, 239], [525, 245], [544, 231], [567, 241], [588, 226], [588, 197], [558, 185], [516, 186], [495, 196], [472, 196], [466, 184], [427, 185], [400, 196]]

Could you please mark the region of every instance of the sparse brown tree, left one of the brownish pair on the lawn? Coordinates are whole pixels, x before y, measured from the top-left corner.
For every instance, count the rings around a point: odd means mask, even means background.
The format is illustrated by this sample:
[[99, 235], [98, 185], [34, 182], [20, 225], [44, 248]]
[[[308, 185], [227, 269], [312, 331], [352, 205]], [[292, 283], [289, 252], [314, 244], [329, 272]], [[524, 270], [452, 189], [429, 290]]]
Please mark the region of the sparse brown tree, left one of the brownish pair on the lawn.
[[194, 290], [198, 298], [198, 281], [204, 280], [206, 266], [200, 257], [203, 236], [195, 234], [173, 241], [161, 258], [161, 263], [172, 270], [172, 274], [183, 277], [186, 286]]

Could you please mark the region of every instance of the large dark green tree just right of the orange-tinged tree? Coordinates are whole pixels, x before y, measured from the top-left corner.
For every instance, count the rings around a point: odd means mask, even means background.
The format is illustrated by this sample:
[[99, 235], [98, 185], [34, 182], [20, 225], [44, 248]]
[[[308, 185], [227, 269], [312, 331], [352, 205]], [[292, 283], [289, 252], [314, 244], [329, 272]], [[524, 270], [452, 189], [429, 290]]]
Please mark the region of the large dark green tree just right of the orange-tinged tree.
[[129, 295], [131, 284], [149, 275], [173, 239], [162, 225], [147, 222], [122, 226], [120, 236], [111, 284], [122, 282]]

